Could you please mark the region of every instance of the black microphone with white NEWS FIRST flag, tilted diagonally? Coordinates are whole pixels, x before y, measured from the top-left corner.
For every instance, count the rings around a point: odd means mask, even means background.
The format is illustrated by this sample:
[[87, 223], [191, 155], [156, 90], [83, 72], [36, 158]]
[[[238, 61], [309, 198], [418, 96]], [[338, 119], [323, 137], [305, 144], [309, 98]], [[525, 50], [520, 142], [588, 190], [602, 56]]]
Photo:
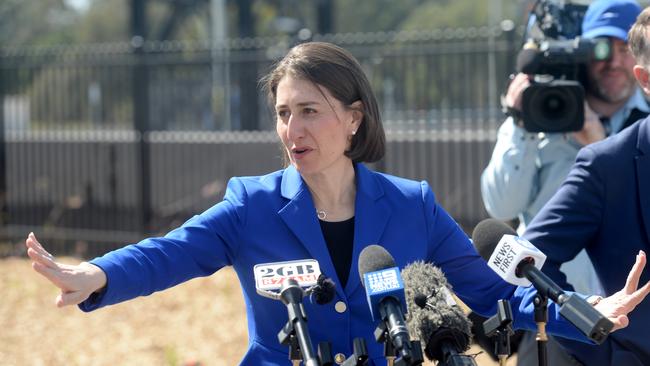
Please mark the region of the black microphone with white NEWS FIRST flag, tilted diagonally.
[[560, 315], [589, 339], [601, 344], [607, 338], [614, 324], [582, 297], [567, 295], [540, 271], [546, 256], [517, 236], [510, 226], [495, 219], [483, 220], [474, 228], [472, 239], [477, 251], [487, 258], [488, 266], [506, 282], [518, 286], [532, 283], [540, 294], [558, 304]]

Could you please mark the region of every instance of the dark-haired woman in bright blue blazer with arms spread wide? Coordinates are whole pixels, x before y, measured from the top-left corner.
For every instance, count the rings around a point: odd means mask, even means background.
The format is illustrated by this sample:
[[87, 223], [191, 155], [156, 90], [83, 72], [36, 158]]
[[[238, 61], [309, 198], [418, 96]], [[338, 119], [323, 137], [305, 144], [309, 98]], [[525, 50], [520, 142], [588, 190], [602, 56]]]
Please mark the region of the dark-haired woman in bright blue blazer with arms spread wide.
[[[370, 364], [383, 364], [357, 269], [361, 250], [379, 244], [400, 267], [418, 260], [439, 266], [475, 311], [492, 314], [497, 300], [509, 299], [515, 326], [535, 327], [534, 290], [509, 285], [492, 272], [426, 182], [363, 164], [382, 158], [385, 137], [370, 84], [347, 51], [318, 42], [296, 46], [264, 83], [287, 168], [232, 178], [222, 202], [180, 228], [78, 266], [55, 262], [30, 233], [28, 254], [34, 269], [61, 288], [59, 306], [91, 311], [233, 266], [248, 317], [249, 348], [241, 364], [287, 364], [287, 347], [277, 340], [286, 308], [256, 293], [253, 267], [313, 258], [336, 283], [331, 303], [305, 302], [313, 343], [330, 341], [334, 353], [348, 356], [353, 339], [364, 337]], [[639, 263], [633, 276], [640, 275], [645, 257]], [[638, 293], [647, 292], [646, 286]], [[612, 300], [625, 305], [610, 312], [618, 327], [639, 297]], [[550, 305], [548, 331], [585, 340], [557, 310]]]

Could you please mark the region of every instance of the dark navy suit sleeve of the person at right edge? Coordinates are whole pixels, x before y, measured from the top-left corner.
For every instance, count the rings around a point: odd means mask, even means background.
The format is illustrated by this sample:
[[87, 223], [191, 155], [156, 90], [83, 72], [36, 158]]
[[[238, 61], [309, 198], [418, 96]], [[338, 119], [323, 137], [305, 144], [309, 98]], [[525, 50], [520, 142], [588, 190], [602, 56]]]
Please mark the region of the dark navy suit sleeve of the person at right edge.
[[[591, 146], [581, 149], [566, 181], [524, 233], [526, 239], [547, 255], [542, 270], [565, 289], [571, 286], [560, 266], [596, 240], [603, 225], [603, 213], [607, 210], [607, 180], [611, 178], [608, 176], [611, 169], [607, 167], [616, 164], [605, 159]], [[647, 364], [629, 343], [626, 345], [619, 340], [620, 334], [610, 334], [597, 346], [569, 339], [557, 340], [585, 365]]]

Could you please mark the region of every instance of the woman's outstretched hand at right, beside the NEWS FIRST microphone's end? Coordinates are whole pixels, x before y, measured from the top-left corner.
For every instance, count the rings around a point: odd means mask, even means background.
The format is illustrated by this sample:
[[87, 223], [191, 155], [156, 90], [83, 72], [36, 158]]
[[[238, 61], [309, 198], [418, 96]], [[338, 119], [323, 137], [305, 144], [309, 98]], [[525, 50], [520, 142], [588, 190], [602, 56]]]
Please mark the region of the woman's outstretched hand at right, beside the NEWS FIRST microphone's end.
[[636, 262], [632, 266], [630, 274], [627, 276], [627, 281], [623, 289], [612, 296], [603, 298], [595, 306], [598, 311], [614, 323], [612, 331], [627, 327], [630, 322], [627, 314], [634, 310], [645, 299], [648, 293], [650, 293], [650, 281], [639, 288], [639, 279], [641, 278], [641, 273], [643, 273], [646, 261], [645, 252], [642, 250], [639, 251], [639, 254], [636, 256]]

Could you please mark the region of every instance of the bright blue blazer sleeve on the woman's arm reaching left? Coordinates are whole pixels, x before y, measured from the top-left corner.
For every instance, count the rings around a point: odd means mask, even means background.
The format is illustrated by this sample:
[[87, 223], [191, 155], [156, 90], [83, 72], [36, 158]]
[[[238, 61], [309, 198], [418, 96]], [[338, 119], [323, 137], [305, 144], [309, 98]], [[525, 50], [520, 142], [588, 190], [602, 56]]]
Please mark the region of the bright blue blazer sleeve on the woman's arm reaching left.
[[101, 294], [79, 304], [83, 311], [146, 296], [231, 265], [246, 220], [246, 190], [233, 178], [224, 200], [164, 237], [125, 246], [90, 263], [107, 277]]

